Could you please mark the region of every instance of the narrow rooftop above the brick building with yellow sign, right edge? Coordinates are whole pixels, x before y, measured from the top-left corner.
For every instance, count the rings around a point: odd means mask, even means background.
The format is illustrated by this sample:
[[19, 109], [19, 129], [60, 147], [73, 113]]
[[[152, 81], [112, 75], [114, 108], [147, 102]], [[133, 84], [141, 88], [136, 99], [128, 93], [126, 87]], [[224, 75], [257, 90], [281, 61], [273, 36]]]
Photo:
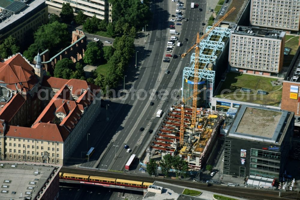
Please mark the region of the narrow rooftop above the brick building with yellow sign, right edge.
[[289, 65], [289, 69], [284, 80], [297, 83], [300, 82], [300, 47], [298, 47], [298, 50]]

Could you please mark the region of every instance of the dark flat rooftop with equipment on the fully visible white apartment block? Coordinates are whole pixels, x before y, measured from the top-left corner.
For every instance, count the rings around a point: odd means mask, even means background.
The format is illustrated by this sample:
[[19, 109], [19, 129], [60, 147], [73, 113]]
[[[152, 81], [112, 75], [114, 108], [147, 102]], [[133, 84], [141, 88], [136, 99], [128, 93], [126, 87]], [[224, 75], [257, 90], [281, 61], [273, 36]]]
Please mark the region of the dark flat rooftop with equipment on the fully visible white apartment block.
[[248, 27], [248, 26], [236, 26], [234, 33], [238, 34], [238, 35], [249, 35], [249, 36], [256, 36], [256, 37], [262, 37], [262, 38], [273, 38], [273, 39], [280, 39], [280, 40], [285, 35], [284, 31], [260, 29], [260, 28], [253, 28], [253, 27]]

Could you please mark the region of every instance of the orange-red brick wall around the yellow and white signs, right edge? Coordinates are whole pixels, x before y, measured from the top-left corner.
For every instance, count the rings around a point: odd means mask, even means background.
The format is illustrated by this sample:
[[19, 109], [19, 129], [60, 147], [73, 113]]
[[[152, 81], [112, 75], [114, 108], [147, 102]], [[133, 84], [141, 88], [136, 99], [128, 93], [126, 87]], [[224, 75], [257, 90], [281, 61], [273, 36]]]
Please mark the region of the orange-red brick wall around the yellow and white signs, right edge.
[[281, 109], [287, 110], [287, 111], [293, 111], [293, 112], [295, 112], [296, 116], [299, 116], [299, 112], [297, 111], [298, 99], [290, 99], [289, 98], [291, 85], [300, 87], [300, 83], [285, 82], [285, 81], [283, 82]]

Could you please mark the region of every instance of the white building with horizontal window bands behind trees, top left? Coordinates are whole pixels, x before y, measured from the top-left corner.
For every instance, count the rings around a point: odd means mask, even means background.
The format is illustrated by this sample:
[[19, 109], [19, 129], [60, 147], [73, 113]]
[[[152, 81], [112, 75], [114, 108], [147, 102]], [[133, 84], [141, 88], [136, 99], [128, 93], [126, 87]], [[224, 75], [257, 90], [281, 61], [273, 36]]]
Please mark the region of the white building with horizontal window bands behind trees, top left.
[[109, 9], [111, 8], [109, 8], [108, 0], [46, 0], [45, 2], [47, 5], [59, 9], [62, 8], [63, 3], [70, 3], [75, 12], [81, 10], [89, 17], [95, 15], [98, 19], [111, 21], [111, 17], [109, 17]]

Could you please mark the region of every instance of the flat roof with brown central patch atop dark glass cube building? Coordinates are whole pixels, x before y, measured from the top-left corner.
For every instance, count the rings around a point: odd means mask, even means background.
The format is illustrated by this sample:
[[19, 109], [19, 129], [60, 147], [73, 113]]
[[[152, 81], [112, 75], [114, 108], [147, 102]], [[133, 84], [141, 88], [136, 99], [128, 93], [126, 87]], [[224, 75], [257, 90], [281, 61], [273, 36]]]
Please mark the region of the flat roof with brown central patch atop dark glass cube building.
[[241, 105], [227, 136], [278, 143], [289, 117], [288, 111]]

